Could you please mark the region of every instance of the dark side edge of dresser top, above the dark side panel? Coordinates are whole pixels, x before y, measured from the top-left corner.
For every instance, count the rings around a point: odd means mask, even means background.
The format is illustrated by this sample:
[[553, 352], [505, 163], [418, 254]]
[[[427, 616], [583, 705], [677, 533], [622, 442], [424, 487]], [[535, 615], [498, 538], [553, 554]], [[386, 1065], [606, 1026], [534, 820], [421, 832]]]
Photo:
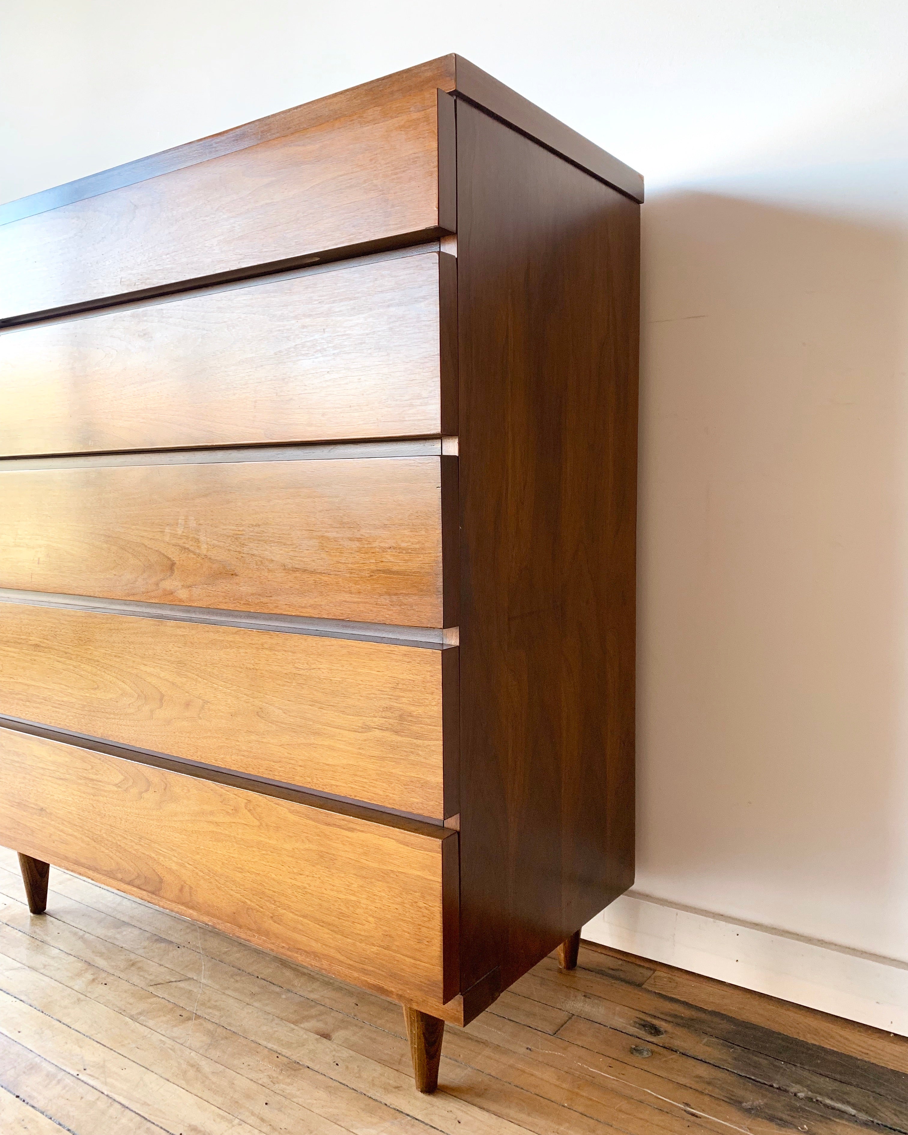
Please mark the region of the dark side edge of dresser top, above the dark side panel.
[[455, 56], [455, 60], [457, 95], [469, 99], [477, 107], [539, 142], [547, 150], [598, 177], [606, 185], [611, 185], [634, 201], [644, 200], [644, 178], [637, 170], [625, 166], [623, 161], [619, 161], [589, 138], [585, 138], [582, 134], [572, 131], [570, 126], [560, 123], [557, 118], [516, 91], [512, 91], [510, 86], [480, 70], [469, 59]]

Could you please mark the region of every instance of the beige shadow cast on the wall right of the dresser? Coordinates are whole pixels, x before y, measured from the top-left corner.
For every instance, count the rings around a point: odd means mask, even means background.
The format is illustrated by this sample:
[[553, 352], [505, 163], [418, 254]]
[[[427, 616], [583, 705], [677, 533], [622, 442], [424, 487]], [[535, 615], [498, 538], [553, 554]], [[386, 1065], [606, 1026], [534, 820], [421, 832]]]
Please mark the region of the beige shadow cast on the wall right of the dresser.
[[908, 960], [905, 264], [644, 208], [637, 890]]

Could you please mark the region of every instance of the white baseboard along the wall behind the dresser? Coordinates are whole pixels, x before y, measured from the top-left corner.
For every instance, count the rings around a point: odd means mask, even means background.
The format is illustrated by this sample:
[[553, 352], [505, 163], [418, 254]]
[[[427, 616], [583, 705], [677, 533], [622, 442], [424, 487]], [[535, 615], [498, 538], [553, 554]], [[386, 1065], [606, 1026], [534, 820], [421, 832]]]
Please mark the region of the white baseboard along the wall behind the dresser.
[[583, 938], [908, 1036], [908, 965], [629, 891]]

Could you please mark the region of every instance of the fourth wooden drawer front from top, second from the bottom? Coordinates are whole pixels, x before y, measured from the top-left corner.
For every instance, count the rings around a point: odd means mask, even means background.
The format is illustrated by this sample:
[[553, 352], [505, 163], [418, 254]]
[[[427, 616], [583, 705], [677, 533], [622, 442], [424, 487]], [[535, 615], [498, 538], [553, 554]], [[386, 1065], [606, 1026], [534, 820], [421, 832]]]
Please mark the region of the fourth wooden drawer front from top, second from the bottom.
[[456, 682], [456, 647], [0, 603], [0, 714], [439, 819]]

